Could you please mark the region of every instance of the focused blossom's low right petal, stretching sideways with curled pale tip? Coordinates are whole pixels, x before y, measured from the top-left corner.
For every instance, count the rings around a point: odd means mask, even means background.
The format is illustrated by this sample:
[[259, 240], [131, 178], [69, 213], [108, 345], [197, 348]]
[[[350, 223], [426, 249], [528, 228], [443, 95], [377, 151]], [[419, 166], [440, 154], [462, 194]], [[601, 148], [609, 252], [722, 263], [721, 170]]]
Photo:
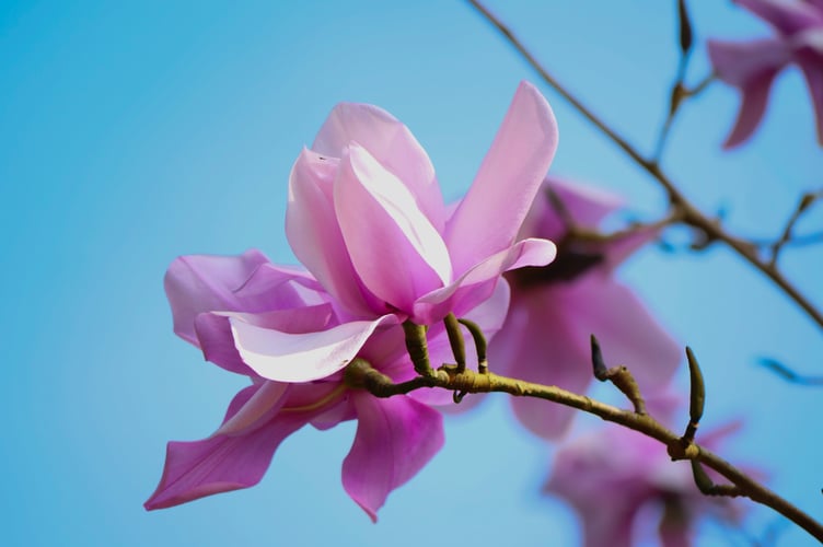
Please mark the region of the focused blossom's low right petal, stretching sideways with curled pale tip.
[[546, 240], [523, 240], [496, 253], [442, 289], [424, 295], [415, 303], [414, 321], [429, 325], [449, 312], [462, 316], [488, 299], [503, 271], [524, 266], [545, 266], [554, 260], [557, 247]]

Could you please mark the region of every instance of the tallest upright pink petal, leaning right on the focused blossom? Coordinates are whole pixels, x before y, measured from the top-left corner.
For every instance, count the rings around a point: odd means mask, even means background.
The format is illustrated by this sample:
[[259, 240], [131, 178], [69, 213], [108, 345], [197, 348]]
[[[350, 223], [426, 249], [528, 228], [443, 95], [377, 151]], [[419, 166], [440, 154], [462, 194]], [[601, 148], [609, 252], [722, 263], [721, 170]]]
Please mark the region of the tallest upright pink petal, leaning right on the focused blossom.
[[552, 163], [557, 138], [548, 103], [532, 84], [522, 82], [447, 226], [455, 272], [511, 246]]

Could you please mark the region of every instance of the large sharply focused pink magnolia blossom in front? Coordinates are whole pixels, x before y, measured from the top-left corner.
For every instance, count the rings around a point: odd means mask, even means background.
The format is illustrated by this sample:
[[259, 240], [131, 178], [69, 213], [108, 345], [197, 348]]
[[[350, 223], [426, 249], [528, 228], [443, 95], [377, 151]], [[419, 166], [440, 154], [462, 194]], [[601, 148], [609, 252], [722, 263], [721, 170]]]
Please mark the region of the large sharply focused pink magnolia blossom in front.
[[429, 326], [434, 362], [451, 360], [440, 323], [449, 313], [487, 336], [500, 328], [509, 302], [501, 274], [555, 256], [552, 242], [515, 236], [556, 144], [548, 104], [521, 84], [472, 188], [448, 214], [434, 170], [403, 124], [370, 105], [335, 107], [289, 183], [287, 235], [309, 271], [250, 251], [181, 257], [166, 274], [175, 333], [252, 385], [211, 437], [169, 443], [147, 509], [255, 485], [292, 432], [357, 419], [343, 484], [376, 519], [441, 447], [442, 418], [429, 405], [451, 395], [381, 399], [350, 388], [343, 369], [360, 357], [397, 382], [413, 377], [404, 321]]

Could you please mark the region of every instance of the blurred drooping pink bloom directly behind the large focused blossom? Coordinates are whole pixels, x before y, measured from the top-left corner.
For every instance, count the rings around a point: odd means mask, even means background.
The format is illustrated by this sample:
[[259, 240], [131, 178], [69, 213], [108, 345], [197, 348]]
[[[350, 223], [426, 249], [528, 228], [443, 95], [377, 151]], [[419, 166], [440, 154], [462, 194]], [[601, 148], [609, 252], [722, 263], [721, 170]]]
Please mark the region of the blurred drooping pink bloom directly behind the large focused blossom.
[[[561, 205], [552, 202], [549, 193]], [[622, 205], [612, 195], [547, 178], [523, 224], [523, 235], [558, 243], [554, 263], [512, 272], [506, 323], [489, 345], [496, 371], [517, 379], [583, 393], [593, 379], [589, 337], [594, 334], [608, 365], [627, 365], [641, 393], [664, 385], [681, 361], [681, 349], [640, 300], [614, 278], [614, 270], [656, 230], [605, 243], [564, 242], [567, 219], [594, 229]], [[573, 410], [528, 397], [511, 399], [518, 419], [532, 432], [556, 438]]]

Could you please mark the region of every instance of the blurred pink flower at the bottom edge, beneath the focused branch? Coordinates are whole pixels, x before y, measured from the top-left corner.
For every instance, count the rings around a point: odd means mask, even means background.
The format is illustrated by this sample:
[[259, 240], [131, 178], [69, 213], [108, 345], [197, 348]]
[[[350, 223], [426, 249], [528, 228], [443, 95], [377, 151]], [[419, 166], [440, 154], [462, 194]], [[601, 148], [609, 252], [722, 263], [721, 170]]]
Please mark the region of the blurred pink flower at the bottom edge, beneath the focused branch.
[[[732, 422], [702, 433], [698, 441], [716, 450], [739, 428]], [[563, 444], [544, 491], [575, 508], [587, 547], [640, 545], [641, 537], [654, 533], [654, 522], [660, 545], [687, 547], [699, 519], [714, 516], [735, 524], [742, 516], [733, 500], [700, 493], [688, 462], [672, 462], [659, 441], [621, 427], [591, 431]]]

